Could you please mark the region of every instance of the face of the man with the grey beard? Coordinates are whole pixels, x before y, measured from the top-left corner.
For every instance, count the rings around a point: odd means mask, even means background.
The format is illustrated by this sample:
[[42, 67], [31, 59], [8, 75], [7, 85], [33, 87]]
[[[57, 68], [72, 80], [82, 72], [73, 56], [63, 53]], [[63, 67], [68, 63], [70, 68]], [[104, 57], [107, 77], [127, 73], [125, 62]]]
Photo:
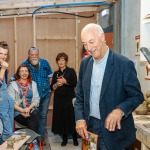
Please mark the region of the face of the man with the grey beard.
[[30, 50], [28, 57], [32, 65], [37, 65], [39, 63], [39, 51], [38, 50]]

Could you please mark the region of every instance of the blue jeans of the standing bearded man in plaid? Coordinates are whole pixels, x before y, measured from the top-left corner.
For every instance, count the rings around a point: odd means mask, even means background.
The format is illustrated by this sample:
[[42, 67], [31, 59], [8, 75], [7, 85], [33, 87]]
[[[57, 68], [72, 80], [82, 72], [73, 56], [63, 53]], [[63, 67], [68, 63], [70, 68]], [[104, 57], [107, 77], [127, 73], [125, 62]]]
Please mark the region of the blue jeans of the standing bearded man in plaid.
[[39, 104], [40, 122], [39, 122], [38, 134], [41, 136], [44, 136], [45, 134], [49, 102], [50, 102], [50, 92], [45, 97], [40, 99], [40, 104]]

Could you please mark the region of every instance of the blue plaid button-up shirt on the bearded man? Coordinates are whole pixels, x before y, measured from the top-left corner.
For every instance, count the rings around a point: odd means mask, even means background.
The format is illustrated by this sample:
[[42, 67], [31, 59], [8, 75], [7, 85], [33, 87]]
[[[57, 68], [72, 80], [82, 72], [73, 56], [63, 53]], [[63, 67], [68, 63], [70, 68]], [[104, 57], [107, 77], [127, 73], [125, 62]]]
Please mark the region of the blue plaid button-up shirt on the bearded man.
[[37, 83], [37, 88], [40, 98], [43, 98], [50, 92], [49, 78], [52, 77], [52, 69], [47, 60], [39, 60], [39, 69], [36, 71], [27, 59], [23, 64], [30, 68], [32, 74], [32, 80]]

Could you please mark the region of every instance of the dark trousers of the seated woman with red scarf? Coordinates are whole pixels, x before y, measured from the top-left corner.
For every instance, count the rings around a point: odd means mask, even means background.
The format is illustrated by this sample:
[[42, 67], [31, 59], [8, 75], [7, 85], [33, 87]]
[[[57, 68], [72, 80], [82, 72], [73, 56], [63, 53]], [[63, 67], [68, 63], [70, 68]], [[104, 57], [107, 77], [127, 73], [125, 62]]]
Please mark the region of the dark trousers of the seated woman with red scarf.
[[32, 113], [30, 113], [30, 117], [23, 117], [21, 114], [15, 117], [15, 120], [21, 125], [26, 126], [28, 129], [33, 130], [38, 133], [39, 129], [39, 111], [34, 109]]

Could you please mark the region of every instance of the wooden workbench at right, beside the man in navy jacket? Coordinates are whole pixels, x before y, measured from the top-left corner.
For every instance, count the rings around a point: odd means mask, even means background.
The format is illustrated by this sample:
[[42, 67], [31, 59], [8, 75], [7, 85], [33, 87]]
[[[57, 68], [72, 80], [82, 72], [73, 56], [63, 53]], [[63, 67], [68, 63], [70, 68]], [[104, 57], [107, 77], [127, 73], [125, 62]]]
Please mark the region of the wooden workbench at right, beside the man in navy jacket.
[[141, 142], [141, 150], [150, 150], [150, 116], [134, 115], [136, 138]]

